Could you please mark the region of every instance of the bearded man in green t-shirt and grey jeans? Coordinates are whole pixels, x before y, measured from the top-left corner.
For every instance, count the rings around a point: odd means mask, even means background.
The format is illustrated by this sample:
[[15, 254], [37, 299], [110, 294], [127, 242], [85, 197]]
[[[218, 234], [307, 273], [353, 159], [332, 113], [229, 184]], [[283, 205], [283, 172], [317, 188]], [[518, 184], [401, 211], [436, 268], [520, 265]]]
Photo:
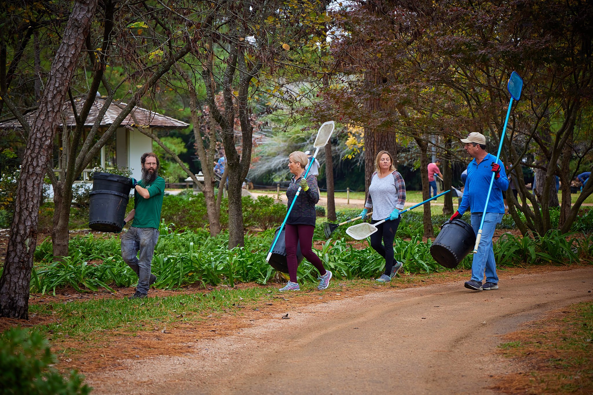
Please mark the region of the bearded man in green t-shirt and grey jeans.
[[151, 262], [154, 246], [158, 241], [158, 225], [161, 223], [162, 197], [165, 192], [165, 180], [158, 176], [160, 162], [157, 155], [146, 152], [140, 162], [142, 179], [136, 181], [132, 178], [134, 209], [123, 221], [124, 225], [131, 220], [133, 223], [122, 236], [122, 258], [138, 275], [136, 292], [128, 299], [145, 298], [148, 288], [157, 281], [157, 277], [151, 273]]

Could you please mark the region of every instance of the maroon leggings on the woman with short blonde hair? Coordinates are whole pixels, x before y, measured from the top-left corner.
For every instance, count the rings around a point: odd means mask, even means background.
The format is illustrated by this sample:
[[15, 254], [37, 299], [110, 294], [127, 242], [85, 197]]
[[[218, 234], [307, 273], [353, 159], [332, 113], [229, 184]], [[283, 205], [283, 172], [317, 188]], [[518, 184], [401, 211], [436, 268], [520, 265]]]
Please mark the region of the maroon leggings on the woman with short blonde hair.
[[311, 262], [320, 275], [326, 274], [326, 269], [321, 263], [321, 259], [313, 252], [313, 225], [289, 225], [286, 224], [286, 233], [284, 242], [286, 243], [286, 264], [288, 264], [288, 274], [292, 282], [297, 282], [297, 243], [301, 242], [302, 256]]

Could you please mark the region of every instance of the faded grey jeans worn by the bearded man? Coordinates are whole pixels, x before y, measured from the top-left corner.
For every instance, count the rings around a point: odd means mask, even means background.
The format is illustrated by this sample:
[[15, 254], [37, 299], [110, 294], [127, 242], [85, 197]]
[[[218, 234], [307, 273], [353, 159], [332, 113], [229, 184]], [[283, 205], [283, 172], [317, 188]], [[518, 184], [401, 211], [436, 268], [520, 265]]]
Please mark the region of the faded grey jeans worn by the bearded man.
[[[122, 258], [138, 275], [136, 291], [148, 294], [148, 281], [150, 280], [150, 266], [154, 246], [158, 242], [158, 229], [154, 227], [130, 226], [122, 236]], [[140, 259], [138, 259], [138, 251]]]

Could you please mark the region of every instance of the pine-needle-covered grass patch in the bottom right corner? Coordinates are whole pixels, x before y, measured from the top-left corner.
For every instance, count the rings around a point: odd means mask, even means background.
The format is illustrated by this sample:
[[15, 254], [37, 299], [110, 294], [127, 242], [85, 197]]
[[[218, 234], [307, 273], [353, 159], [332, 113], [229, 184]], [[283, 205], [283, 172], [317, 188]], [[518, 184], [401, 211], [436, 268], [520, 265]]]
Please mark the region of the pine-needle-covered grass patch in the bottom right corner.
[[526, 394], [593, 393], [593, 302], [572, 304], [506, 336], [499, 352], [527, 370], [498, 377], [496, 389]]

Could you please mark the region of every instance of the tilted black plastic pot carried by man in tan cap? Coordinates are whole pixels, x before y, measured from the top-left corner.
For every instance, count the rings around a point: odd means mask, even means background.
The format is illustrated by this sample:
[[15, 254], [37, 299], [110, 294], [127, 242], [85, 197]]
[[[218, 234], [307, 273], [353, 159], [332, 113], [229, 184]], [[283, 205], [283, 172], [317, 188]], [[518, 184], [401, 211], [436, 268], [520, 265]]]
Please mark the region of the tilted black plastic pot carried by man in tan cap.
[[454, 269], [476, 245], [476, 233], [466, 221], [455, 218], [441, 226], [431, 246], [431, 255], [436, 263]]

